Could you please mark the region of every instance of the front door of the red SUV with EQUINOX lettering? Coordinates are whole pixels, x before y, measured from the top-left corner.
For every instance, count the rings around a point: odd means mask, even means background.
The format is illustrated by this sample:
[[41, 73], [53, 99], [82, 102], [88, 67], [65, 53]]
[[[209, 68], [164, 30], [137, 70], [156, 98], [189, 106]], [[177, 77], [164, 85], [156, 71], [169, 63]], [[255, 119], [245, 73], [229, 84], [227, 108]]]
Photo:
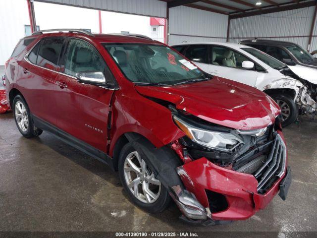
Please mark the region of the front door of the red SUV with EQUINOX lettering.
[[81, 71], [101, 71], [114, 80], [105, 60], [90, 43], [70, 39], [63, 60], [64, 73], [56, 78], [57, 125], [66, 133], [106, 152], [107, 120], [113, 90], [82, 84]]

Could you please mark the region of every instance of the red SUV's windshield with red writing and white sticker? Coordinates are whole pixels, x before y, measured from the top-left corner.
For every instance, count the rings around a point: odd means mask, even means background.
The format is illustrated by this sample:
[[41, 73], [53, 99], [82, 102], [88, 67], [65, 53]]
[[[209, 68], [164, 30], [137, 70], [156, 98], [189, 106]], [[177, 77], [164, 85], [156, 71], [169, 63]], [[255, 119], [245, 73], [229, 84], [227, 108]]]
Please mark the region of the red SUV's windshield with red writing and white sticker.
[[180, 54], [163, 45], [104, 44], [124, 75], [132, 82], [174, 85], [208, 76]]

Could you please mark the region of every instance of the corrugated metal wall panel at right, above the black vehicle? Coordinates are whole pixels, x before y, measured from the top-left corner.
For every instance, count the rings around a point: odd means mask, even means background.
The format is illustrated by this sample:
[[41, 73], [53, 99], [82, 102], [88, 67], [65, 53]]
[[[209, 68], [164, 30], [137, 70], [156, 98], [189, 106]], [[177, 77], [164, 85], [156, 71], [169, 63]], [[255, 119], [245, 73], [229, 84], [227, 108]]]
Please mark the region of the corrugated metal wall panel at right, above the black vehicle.
[[[315, 6], [281, 11], [258, 16], [233, 19], [230, 21], [230, 42], [252, 38], [289, 41], [308, 49], [308, 41], [314, 16]], [[316, 27], [316, 26], [315, 26]], [[283, 38], [284, 36], [284, 38]], [[306, 36], [292, 37], [285, 36]], [[317, 43], [317, 42], [316, 42]]]

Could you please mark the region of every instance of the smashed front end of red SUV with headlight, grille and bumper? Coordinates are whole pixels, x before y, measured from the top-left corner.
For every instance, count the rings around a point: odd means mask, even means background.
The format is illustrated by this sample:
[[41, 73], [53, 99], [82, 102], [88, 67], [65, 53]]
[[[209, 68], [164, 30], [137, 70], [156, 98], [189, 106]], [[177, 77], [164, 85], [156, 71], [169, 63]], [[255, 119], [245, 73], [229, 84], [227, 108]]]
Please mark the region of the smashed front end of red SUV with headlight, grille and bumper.
[[279, 119], [262, 129], [237, 130], [179, 110], [172, 114], [186, 134], [171, 143], [184, 163], [176, 171], [185, 190], [171, 187], [182, 219], [215, 225], [247, 219], [264, 209], [286, 174]]

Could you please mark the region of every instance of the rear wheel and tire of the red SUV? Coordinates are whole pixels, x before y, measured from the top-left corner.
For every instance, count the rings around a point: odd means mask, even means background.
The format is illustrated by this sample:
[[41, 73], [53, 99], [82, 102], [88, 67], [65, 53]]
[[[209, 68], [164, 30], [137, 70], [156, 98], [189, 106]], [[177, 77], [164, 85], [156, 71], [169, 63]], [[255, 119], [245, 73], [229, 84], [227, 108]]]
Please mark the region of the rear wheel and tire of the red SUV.
[[43, 130], [34, 126], [30, 109], [21, 95], [16, 95], [14, 97], [12, 112], [15, 124], [24, 137], [31, 138], [42, 134]]

